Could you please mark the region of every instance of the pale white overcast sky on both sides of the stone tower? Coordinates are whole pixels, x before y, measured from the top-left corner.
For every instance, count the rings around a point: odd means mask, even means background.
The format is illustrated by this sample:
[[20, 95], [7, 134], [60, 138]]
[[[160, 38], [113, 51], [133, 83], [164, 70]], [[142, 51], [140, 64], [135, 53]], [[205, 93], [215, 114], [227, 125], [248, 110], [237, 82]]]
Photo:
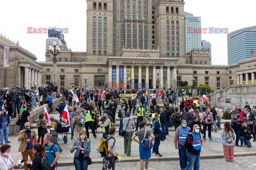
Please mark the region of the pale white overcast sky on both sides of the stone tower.
[[[156, 1], [156, 0], [155, 0]], [[246, 3], [244, 3], [246, 2]], [[2, 1], [0, 33], [19, 41], [19, 45], [45, 61], [47, 33], [28, 33], [33, 28], [68, 28], [67, 46], [74, 52], [86, 52], [86, 1]], [[185, 11], [201, 16], [202, 28], [228, 28], [228, 32], [256, 25], [255, 0], [185, 0]], [[203, 33], [212, 44], [212, 64], [226, 65], [227, 34]]]

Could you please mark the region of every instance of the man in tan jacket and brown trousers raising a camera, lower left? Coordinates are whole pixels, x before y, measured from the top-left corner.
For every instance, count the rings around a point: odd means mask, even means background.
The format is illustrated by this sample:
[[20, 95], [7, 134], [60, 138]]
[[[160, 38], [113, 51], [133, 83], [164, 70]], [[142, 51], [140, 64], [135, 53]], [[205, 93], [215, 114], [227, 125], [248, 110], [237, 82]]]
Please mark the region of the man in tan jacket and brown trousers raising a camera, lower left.
[[24, 162], [24, 169], [28, 170], [27, 161], [28, 156], [30, 160], [33, 161], [34, 153], [33, 153], [33, 145], [36, 143], [36, 132], [30, 129], [30, 123], [26, 122], [24, 124], [24, 129], [20, 131], [18, 141], [20, 142], [19, 152], [21, 152], [22, 159], [25, 160]]

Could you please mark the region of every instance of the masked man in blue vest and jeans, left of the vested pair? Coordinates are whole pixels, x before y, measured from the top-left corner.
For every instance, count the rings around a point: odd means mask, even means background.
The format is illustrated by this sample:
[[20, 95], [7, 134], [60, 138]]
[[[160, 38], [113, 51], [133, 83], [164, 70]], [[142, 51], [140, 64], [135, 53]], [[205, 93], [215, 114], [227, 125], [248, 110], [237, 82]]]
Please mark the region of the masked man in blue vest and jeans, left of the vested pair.
[[[186, 120], [182, 120], [181, 126], [179, 126], [175, 131], [174, 145], [175, 145], [175, 149], [179, 149], [181, 170], [184, 170], [188, 164], [188, 157], [186, 155], [186, 149], [184, 149], [184, 143], [186, 142], [186, 138], [189, 131], [190, 131], [190, 128], [187, 126]], [[178, 142], [178, 145], [177, 145], [177, 142]]]

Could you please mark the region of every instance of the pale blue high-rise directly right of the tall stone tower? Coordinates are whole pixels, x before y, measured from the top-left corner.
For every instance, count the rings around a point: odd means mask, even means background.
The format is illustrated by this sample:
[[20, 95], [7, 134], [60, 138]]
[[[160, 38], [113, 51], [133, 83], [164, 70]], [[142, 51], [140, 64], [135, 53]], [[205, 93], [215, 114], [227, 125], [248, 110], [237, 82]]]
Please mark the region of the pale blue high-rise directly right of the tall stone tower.
[[201, 48], [201, 33], [189, 33], [188, 29], [198, 30], [201, 28], [201, 16], [194, 16], [191, 13], [185, 12], [185, 50], [189, 53], [191, 49]]

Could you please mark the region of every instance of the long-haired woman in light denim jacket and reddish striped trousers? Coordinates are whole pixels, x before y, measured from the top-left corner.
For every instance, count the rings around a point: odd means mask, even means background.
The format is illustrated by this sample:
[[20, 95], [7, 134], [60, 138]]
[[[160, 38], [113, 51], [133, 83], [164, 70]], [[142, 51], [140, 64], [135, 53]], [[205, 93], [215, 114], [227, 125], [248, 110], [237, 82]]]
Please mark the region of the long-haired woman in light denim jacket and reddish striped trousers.
[[[222, 146], [224, 152], [224, 158], [227, 162], [235, 162], [234, 161], [234, 140], [233, 138], [236, 137], [236, 133], [231, 128], [229, 122], [224, 122], [224, 128], [220, 132], [220, 136], [222, 138]], [[230, 139], [227, 142], [227, 139]]]

